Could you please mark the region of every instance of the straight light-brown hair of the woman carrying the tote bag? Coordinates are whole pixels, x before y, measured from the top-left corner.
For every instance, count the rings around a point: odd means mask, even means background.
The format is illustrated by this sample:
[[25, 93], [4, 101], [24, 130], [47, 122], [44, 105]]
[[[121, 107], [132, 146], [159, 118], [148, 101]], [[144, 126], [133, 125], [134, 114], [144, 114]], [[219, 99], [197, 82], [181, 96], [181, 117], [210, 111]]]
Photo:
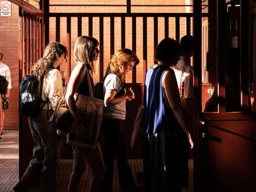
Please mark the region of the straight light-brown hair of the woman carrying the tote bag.
[[92, 36], [79, 36], [79, 38], [77, 38], [77, 41], [75, 41], [74, 61], [82, 62], [86, 65], [89, 65], [90, 67], [92, 67], [92, 70], [94, 70], [93, 51], [98, 46], [98, 40], [96, 40]]

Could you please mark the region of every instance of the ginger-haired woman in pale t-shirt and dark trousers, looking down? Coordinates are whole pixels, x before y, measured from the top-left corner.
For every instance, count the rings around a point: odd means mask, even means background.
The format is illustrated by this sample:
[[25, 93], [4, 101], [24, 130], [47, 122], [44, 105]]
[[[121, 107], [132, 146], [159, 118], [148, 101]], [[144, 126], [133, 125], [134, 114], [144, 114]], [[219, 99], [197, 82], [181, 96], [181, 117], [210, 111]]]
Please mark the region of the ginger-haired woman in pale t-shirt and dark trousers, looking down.
[[111, 58], [106, 69], [103, 93], [106, 111], [101, 122], [105, 137], [103, 159], [106, 168], [102, 191], [110, 192], [113, 185], [114, 159], [121, 187], [126, 191], [139, 190], [129, 163], [127, 162], [124, 140], [124, 120], [126, 119], [126, 101], [135, 98], [134, 92], [124, 86], [126, 73], [139, 64], [139, 59], [130, 49], [120, 49]]

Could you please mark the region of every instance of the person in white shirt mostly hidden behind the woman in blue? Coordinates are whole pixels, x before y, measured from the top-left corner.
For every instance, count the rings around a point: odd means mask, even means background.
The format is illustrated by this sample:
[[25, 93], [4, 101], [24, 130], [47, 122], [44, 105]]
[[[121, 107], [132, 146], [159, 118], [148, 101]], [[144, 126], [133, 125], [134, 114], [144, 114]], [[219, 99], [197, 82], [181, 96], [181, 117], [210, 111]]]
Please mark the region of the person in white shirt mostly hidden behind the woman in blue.
[[193, 130], [193, 67], [190, 65], [190, 57], [193, 56], [193, 36], [182, 36], [181, 41], [181, 56], [177, 65], [172, 66], [177, 86], [179, 88], [179, 95], [181, 97], [181, 106], [186, 113], [186, 120], [189, 122], [189, 131]]

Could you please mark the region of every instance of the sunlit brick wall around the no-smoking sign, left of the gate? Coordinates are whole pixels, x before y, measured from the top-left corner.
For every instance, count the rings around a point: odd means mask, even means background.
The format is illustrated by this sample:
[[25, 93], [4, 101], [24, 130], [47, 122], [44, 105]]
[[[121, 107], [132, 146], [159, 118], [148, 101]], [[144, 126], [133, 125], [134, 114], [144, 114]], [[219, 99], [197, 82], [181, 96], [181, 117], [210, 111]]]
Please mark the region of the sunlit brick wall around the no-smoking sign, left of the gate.
[[4, 129], [17, 130], [19, 127], [19, 7], [15, 4], [12, 4], [11, 17], [0, 17], [0, 49], [4, 52], [2, 62], [9, 66], [12, 80]]

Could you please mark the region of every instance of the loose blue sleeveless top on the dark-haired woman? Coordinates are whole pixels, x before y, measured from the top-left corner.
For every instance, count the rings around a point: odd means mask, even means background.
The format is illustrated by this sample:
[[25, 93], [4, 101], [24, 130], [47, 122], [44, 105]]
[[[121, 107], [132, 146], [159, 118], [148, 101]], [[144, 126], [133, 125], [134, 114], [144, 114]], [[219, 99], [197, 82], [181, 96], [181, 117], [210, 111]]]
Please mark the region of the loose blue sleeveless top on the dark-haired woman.
[[144, 128], [146, 133], [160, 133], [163, 130], [171, 131], [179, 125], [161, 85], [163, 74], [168, 69], [169, 67], [166, 65], [148, 69], [144, 101]]

